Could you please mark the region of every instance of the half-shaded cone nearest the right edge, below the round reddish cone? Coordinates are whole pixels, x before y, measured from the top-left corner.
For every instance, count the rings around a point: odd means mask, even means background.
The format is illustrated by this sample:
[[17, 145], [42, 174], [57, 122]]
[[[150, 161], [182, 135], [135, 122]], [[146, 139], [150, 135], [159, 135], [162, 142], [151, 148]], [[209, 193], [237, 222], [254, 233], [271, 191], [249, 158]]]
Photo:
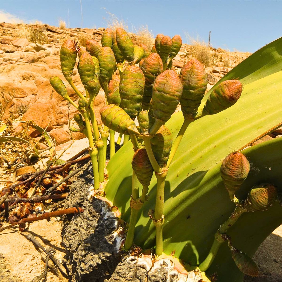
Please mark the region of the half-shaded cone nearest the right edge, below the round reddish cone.
[[272, 184], [254, 186], [243, 207], [248, 211], [267, 210], [277, 199], [277, 189]]

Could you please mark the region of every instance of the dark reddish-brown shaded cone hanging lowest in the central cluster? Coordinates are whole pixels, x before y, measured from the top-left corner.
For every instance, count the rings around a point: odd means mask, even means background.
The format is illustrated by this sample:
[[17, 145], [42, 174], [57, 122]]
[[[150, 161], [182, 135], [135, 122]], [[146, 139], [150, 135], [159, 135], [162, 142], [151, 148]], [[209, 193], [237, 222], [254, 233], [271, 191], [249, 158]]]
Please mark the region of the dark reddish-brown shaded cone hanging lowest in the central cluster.
[[131, 165], [139, 182], [143, 186], [149, 186], [154, 170], [147, 155], [146, 149], [137, 149], [135, 151]]

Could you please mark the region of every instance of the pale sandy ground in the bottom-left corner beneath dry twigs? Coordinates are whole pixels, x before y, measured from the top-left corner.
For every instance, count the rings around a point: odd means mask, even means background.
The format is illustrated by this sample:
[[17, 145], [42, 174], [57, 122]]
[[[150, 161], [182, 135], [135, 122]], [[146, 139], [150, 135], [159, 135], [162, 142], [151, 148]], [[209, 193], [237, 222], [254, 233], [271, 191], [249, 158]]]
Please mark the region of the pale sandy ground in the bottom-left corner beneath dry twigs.
[[[18, 229], [15, 227], [14, 230]], [[1, 233], [0, 254], [5, 257], [6, 269], [10, 274], [11, 281], [21, 279], [23, 282], [30, 282], [34, 277], [43, 273], [45, 263], [41, 259], [41, 253], [44, 257], [45, 253], [36, 249], [31, 241], [14, 230], [6, 229]], [[55, 256], [61, 261], [65, 255], [65, 250], [61, 246], [60, 222], [56, 221], [54, 218], [50, 221], [35, 221], [29, 225], [26, 231], [34, 235], [42, 246], [54, 248], [56, 250]], [[1, 282], [2, 281], [4, 282], [5, 280], [1, 280]], [[6, 281], [9, 281], [7, 277]], [[48, 271], [46, 281], [66, 282], [68, 280], [65, 278], [59, 280], [55, 274]]]

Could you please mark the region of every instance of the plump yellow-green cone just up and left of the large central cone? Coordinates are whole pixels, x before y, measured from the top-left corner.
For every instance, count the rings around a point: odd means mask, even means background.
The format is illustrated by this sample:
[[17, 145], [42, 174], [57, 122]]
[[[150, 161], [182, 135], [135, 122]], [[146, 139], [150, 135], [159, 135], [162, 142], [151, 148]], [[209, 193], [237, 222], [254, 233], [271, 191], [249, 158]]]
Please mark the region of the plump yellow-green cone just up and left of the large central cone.
[[113, 50], [110, 47], [103, 47], [99, 54], [100, 78], [102, 82], [108, 83], [116, 70], [116, 61]]

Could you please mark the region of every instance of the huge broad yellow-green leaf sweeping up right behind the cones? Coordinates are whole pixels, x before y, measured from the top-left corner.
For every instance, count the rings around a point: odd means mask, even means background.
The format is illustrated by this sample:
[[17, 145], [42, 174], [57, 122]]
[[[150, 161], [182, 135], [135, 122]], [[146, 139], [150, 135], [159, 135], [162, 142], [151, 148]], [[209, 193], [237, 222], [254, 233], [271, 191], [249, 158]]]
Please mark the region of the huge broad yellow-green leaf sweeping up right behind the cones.
[[[278, 53], [281, 49], [282, 38], [258, 50], [231, 70], [224, 79], [239, 78], [244, 83], [239, 101], [219, 114], [204, 116], [189, 125], [166, 179], [163, 238], [167, 254], [176, 250], [175, 255], [186, 262], [191, 261], [193, 265], [202, 262], [211, 246], [213, 234], [234, 209], [219, 176], [220, 163], [228, 153], [243, 147], [281, 122], [282, 55]], [[182, 122], [182, 114], [177, 113], [166, 124], [174, 139]], [[282, 174], [281, 165], [278, 166], [282, 160], [281, 141], [278, 138], [244, 151], [253, 163], [242, 190], [244, 195], [259, 181], [281, 185], [281, 181], [278, 181]], [[109, 162], [109, 182], [105, 188], [107, 198], [120, 209], [126, 221], [129, 221], [130, 215], [131, 146], [128, 142]], [[272, 169], [269, 170], [269, 167]], [[146, 248], [155, 245], [155, 228], [147, 216], [148, 210], [155, 206], [155, 194], [156, 179], [153, 177], [149, 187], [150, 198], [140, 212], [134, 240]], [[280, 216], [276, 214], [278, 210]], [[261, 214], [260, 218], [255, 213], [242, 216], [242, 221], [240, 219], [237, 222], [238, 225], [242, 222], [240, 228], [236, 229], [239, 230], [237, 234], [233, 229], [230, 232], [235, 232], [239, 238], [237, 241], [237, 237], [233, 238], [232, 235], [234, 246], [252, 255], [261, 241], [282, 223], [281, 211], [281, 207], [276, 205]], [[269, 215], [272, 218], [267, 220]], [[246, 223], [245, 218], [248, 217], [252, 220]], [[259, 228], [263, 232], [251, 240], [252, 234], [255, 234], [253, 230]], [[244, 234], [240, 233], [241, 229]], [[223, 252], [222, 261], [219, 256], [217, 264], [214, 263], [210, 271], [218, 271], [218, 281], [241, 281], [242, 275], [225, 247], [222, 246], [220, 250]], [[230, 267], [233, 269], [232, 277]]]

